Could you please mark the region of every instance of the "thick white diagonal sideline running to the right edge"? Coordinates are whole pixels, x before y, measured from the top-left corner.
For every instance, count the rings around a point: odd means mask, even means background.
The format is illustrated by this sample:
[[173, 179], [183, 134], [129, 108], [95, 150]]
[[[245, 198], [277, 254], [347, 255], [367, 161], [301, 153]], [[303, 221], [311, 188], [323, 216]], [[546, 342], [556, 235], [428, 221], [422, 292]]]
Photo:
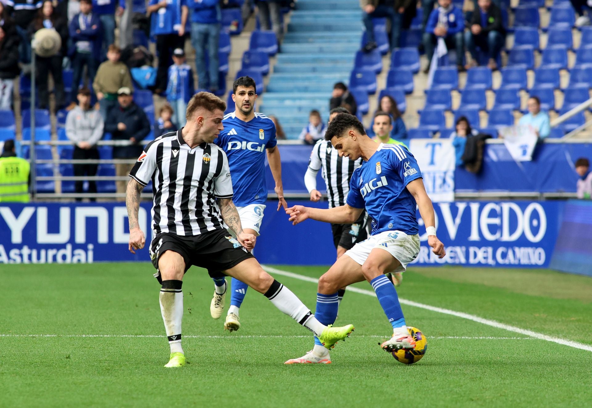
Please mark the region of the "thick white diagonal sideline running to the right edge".
[[[262, 265], [262, 266], [263, 266], [263, 269], [265, 269], [268, 272], [274, 273], [274, 274], [284, 275], [286, 277], [299, 279], [301, 281], [307, 281], [307, 282], [313, 282], [313, 283], [318, 282], [318, 280], [315, 278], [311, 278], [311, 277], [307, 277], [307, 276], [299, 275], [299, 274], [294, 274], [294, 272], [281, 271], [280, 269], [272, 268], [271, 266], [266, 266], [266, 265]], [[374, 291], [370, 291], [370, 290], [359, 289], [359, 288], [348, 286], [348, 291], [376, 297], [376, 293], [374, 293]], [[462, 319], [472, 320], [473, 322], [482, 323], [483, 325], [496, 327], [497, 329], [508, 330], [509, 332], [519, 333], [519, 334], [525, 335], [525, 336], [530, 336], [535, 339], [546, 340], [548, 342], [562, 344], [564, 346], [570, 346], [570, 347], [577, 348], [580, 350], [592, 352], [592, 346], [589, 346], [587, 344], [574, 342], [572, 340], [559, 339], [559, 338], [548, 336], [548, 335], [543, 335], [542, 333], [533, 332], [532, 330], [520, 329], [520, 327], [516, 327], [516, 326], [504, 325], [504, 323], [496, 322], [495, 320], [483, 319], [482, 317], [474, 316], [473, 314], [463, 313], [462, 311], [442, 309], [441, 307], [430, 306], [429, 304], [417, 303], [412, 300], [406, 300], [406, 299], [402, 299], [402, 298], [399, 298], [399, 302], [402, 304], [406, 304], [408, 306], [419, 307], [420, 309], [436, 311], [437, 313], [450, 314], [451, 316], [456, 316], [456, 317], [461, 317]]]

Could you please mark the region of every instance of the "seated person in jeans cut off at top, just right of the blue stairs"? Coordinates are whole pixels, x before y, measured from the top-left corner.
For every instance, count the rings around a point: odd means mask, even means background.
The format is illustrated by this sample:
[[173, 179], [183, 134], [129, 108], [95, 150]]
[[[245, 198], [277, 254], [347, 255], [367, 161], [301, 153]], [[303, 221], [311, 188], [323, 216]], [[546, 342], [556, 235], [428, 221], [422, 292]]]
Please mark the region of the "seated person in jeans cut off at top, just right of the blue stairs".
[[[371, 52], [378, 45], [374, 39], [372, 18], [386, 17], [391, 22], [391, 49], [399, 46], [403, 20], [415, 17], [417, 1], [413, 0], [360, 0], [363, 9], [362, 21], [366, 27], [367, 42], [362, 50]], [[410, 14], [413, 12], [413, 14]]]

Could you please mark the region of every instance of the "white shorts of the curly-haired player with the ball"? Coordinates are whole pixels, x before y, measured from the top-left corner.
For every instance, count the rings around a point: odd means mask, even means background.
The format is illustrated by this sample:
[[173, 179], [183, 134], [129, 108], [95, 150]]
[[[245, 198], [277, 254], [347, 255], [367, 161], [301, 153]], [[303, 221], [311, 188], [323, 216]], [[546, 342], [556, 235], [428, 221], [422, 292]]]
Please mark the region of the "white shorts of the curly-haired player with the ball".
[[407, 235], [398, 230], [381, 232], [356, 243], [345, 255], [363, 265], [374, 248], [384, 249], [400, 262], [401, 266], [389, 272], [405, 272], [407, 265], [419, 254], [419, 235]]

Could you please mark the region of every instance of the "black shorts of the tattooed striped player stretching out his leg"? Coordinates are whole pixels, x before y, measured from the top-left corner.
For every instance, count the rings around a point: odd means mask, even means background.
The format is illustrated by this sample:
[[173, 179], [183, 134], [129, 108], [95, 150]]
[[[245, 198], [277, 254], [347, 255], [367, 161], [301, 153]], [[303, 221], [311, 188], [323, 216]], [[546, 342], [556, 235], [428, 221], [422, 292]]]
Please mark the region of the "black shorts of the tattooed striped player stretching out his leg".
[[[208, 269], [211, 277], [223, 277], [223, 271], [240, 264], [253, 255], [234, 239], [226, 229], [216, 229], [195, 236], [182, 236], [168, 232], [156, 234], [150, 243], [150, 259], [158, 271], [160, 255], [167, 250], [178, 253], [185, 260], [185, 272], [191, 265]], [[159, 282], [160, 271], [155, 277]]]

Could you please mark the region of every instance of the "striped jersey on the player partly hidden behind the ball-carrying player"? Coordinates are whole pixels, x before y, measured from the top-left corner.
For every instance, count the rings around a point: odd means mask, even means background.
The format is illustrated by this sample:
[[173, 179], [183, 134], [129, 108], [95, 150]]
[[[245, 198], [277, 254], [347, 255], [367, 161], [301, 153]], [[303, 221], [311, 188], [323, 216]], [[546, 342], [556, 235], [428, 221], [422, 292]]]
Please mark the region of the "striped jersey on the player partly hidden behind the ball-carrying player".
[[[349, 179], [353, 171], [362, 165], [362, 159], [350, 160], [339, 156], [328, 140], [319, 140], [310, 153], [308, 168], [316, 173], [322, 169], [323, 179], [327, 185], [329, 208], [345, 205], [349, 192]], [[307, 188], [309, 187], [307, 183]], [[309, 189], [310, 192], [310, 189]]]

